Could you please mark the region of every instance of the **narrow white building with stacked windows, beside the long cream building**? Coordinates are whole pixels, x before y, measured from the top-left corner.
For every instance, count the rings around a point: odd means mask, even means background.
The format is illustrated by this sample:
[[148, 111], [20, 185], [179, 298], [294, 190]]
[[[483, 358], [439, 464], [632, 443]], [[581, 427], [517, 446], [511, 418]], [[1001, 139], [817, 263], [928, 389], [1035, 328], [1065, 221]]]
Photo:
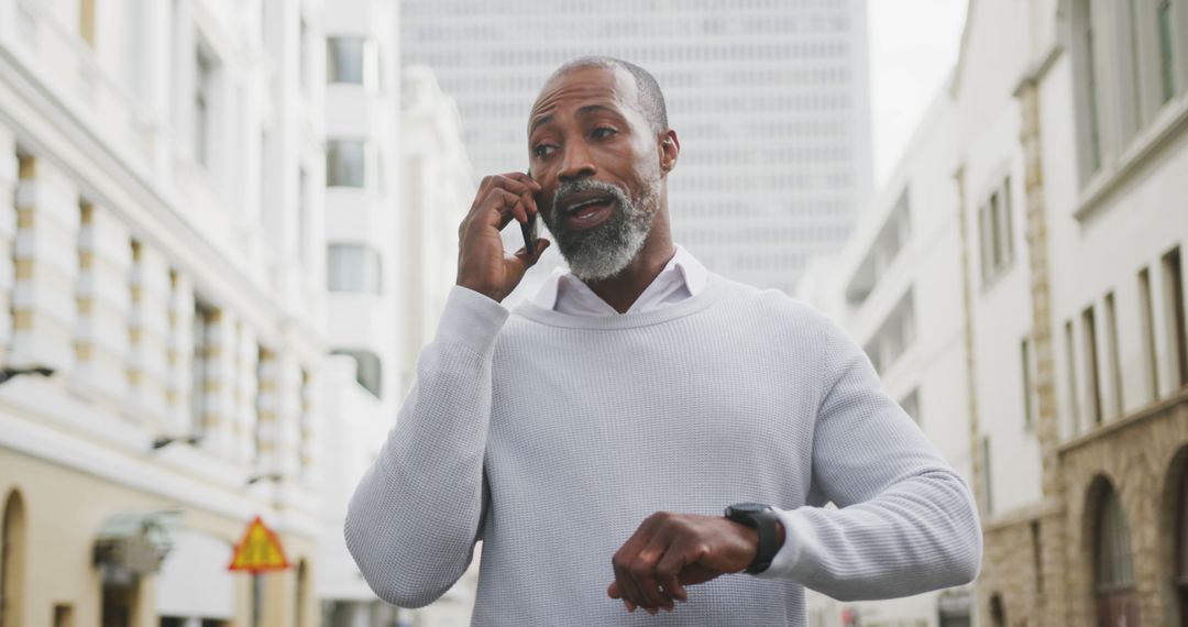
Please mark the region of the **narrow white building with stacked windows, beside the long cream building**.
[[328, 458], [322, 484], [323, 622], [390, 626], [347, 552], [343, 524], [359, 479], [394, 424], [400, 395], [398, 200], [399, 50], [393, 2], [336, 2], [326, 32], [326, 319], [331, 375], [324, 380]]

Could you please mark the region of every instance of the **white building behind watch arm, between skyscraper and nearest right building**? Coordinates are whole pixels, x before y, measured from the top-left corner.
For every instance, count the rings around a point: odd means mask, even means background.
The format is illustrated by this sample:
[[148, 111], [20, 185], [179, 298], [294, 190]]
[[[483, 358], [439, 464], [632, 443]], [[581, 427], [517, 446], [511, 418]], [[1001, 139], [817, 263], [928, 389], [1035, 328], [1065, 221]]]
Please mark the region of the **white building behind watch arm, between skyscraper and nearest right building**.
[[[814, 261], [797, 296], [838, 321], [866, 349], [887, 394], [941, 455], [972, 483], [965, 381], [961, 230], [955, 211], [955, 112], [939, 95], [923, 116], [886, 188], [836, 255]], [[955, 419], [956, 417], [956, 419]], [[809, 594], [815, 626], [842, 627], [846, 616], [867, 626], [936, 626], [968, 615], [969, 590], [909, 598], [840, 603]]]

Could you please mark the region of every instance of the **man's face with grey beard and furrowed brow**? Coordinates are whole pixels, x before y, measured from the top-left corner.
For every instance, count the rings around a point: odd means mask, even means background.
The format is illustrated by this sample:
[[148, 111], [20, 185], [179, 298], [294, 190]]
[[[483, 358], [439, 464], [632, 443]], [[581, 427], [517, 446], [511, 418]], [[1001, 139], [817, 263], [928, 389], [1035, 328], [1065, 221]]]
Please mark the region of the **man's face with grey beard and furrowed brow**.
[[550, 81], [529, 118], [530, 172], [561, 254], [581, 279], [621, 272], [661, 207], [658, 134], [631, 74], [580, 69]]

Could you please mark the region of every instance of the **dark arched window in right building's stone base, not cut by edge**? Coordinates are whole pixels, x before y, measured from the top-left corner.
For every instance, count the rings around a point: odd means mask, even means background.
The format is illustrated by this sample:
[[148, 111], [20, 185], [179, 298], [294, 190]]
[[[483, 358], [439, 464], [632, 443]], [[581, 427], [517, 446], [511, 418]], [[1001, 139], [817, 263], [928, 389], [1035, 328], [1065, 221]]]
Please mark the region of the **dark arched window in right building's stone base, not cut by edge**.
[[1138, 625], [1138, 595], [1126, 514], [1108, 483], [1099, 489], [1093, 514], [1093, 589], [1098, 625]]

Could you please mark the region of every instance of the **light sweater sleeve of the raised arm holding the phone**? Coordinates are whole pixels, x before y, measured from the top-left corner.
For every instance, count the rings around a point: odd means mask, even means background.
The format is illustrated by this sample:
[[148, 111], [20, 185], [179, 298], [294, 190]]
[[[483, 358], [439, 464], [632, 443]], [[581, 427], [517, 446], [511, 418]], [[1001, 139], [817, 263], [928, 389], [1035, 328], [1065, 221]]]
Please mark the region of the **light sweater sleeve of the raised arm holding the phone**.
[[484, 456], [495, 338], [508, 311], [455, 286], [375, 463], [347, 508], [347, 549], [372, 590], [425, 606], [470, 563], [487, 507]]

